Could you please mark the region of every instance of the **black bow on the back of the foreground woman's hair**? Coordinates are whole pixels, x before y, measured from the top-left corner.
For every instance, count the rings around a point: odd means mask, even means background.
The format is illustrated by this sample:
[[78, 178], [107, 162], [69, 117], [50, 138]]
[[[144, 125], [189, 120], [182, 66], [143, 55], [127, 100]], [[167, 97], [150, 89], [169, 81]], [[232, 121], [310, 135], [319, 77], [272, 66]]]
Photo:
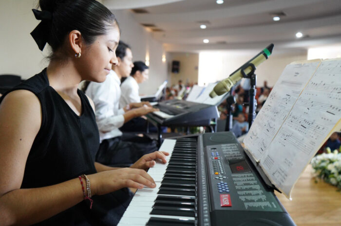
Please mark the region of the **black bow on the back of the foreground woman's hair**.
[[39, 50], [43, 51], [50, 34], [52, 13], [46, 10], [39, 11], [36, 9], [32, 9], [32, 11], [36, 19], [41, 20], [41, 22], [30, 34], [36, 41]]

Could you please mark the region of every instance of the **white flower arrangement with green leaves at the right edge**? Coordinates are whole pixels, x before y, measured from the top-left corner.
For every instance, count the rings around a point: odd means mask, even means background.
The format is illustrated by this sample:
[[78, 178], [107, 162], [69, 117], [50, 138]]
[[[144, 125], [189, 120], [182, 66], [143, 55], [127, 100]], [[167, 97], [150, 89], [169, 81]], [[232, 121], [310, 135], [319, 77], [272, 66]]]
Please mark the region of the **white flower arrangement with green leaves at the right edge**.
[[341, 190], [341, 153], [327, 148], [327, 153], [311, 159], [311, 165], [317, 177]]

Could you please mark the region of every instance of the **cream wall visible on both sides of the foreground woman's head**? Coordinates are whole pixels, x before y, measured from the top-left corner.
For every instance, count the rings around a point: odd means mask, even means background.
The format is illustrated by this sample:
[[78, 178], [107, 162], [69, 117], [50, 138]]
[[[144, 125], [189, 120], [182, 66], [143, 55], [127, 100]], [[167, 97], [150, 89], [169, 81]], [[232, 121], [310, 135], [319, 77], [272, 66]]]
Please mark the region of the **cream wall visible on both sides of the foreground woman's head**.
[[[38, 0], [0, 1], [0, 74], [18, 74], [27, 79], [48, 65], [44, 52], [38, 49], [30, 33], [38, 25], [32, 9]], [[162, 44], [155, 41], [127, 10], [114, 11], [121, 26], [121, 39], [132, 46], [133, 60], [145, 61], [150, 55], [150, 79], [141, 85], [140, 92], [152, 94], [167, 79], [167, 66], [162, 62]]]

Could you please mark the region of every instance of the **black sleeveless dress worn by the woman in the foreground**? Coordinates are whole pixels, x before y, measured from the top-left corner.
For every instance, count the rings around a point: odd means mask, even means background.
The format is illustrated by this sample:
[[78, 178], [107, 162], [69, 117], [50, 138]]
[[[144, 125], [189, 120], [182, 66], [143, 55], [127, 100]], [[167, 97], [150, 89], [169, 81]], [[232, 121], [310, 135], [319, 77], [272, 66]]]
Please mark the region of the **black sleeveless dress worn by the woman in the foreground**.
[[[81, 174], [96, 173], [99, 133], [95, 113], [86, 95], [77, 90], [82, 105], [78, 116], [49, 86], [46, 69], [10, 91], [18, 89], [33, 92], [40, 101], [42, 112], [41, 127], [26, 161], [21, 188], [39, 188]], [[7, 93], [0, 98], [0, 103]], [[92, 209], [88, 201], [82, 201], [37, 226], [114, 226], [125, 211], [128, 199], [127, 190], [97, 195], [93, 197]]]

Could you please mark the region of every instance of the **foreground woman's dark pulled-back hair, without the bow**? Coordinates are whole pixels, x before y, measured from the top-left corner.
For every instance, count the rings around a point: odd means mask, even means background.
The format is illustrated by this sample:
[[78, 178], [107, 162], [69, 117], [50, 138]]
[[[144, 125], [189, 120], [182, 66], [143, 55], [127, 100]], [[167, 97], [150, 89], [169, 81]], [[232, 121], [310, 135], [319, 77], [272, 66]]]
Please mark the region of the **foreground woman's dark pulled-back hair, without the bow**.
[[107, 34], [113, 23], [118, 26], [114, 14], [96, 0], [39, 0], [39, 6], [52, 13], [47, 43], [53, 52], [73, 30], [82, 34], [86, 44], [92, 44], [96, 36]]

